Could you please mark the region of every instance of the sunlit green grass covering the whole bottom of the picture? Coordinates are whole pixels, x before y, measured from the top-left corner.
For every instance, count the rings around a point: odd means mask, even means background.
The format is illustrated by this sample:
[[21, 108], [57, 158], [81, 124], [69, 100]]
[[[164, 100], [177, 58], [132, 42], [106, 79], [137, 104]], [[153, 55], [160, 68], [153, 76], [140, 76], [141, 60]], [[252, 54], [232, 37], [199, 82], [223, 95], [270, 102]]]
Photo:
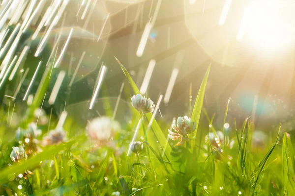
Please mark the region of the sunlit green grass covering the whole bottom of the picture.
[[[128, 71], [119, 65], [133, 94], [139, 94]], [[196, 123], [196, 130], [188, 135], [185, 145], [176, 146], [177, 141], [167, 140], [170, 124], [130, 107], [131, 121], [119, 122], [121, 130], [115, 133], [113, 145], [96, 147], [87, 136], [85, 126], [69, 116], [63, 124], [67, 140], [42, 146], [40, 141], [47, 135], [48, 128], [54, 129], [57, 125], [53, 116], [50, 124], [38, 126], [42, 135], [34, 138], [36, 147], [28, 159], [13, 163], [9, 157], [12, 147], [20, 145], [15, 137], [17, 127], [26, 130], [29, 123], [35, 121], [33, 111], [41, 106], [51, 82], [45, 73], [22, 123], [9, 125], [11, 114], [7, 115], [5, 108], [0, 111], [0, 195], [295, 195], [295, 157], [290, 134], [275, 130], [275, 134], [269, 134], [272, 142], [263, 141], [262, 147], [252, 141], [255, 126], [248, 118], [240, 127], [230, 124], [235, 127], [232, 131], [215, 127], [215, 114], [209, 117], [203, 107], [209, 71], [210, 66], [195, 104], [188, 110], [192, 113], [187, 116]], [[124, 92], [128, 95], [128, 89]], [[104, 102], [108, 103], [108, 99]], [[23, 110], [16, 107], [15, 113]], [[110, 107], [107, 110], [106, 114], [112, 116]], [[207, 123], [200, 121], [203, 117]], [[136, 141], [143, 143], [143, 150], [127, 155], [137, 126]], [[25, 144], [26, 137], [21, 141]], [[235, 142], [233, 146], [231, 141]], [[25, 145], [25, 149], [29, 146]]]

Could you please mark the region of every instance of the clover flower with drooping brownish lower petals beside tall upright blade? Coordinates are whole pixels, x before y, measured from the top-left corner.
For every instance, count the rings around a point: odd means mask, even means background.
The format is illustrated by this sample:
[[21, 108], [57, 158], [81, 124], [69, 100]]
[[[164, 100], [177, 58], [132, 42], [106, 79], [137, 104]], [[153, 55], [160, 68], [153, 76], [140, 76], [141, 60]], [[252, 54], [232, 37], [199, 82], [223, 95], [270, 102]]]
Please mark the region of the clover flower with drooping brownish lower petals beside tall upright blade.
[[174, 131], [168, 129], [168, 137], [172, 140], [178, 140], [180, 138], [180, 142], [177, 143], [178, 146], [182, 145], [185, 139], [188, 139], [187, 134], [192, 133], [196, 129], [196, 123], [193, 123], [192, 119], [187, 116], [178, 117], [177, 121], [173, 121], [172, 128]]

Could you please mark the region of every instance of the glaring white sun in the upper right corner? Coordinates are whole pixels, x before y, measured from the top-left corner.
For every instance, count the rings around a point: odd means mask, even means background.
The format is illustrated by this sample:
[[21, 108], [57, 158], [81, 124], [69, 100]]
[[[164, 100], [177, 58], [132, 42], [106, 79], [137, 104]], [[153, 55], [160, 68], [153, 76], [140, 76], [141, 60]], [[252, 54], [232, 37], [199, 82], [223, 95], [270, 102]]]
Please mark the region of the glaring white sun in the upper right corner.
[[291, 0], [252, 1], [244, 9], [237, 40], [267, 50], [293, 44], [294, 5]]

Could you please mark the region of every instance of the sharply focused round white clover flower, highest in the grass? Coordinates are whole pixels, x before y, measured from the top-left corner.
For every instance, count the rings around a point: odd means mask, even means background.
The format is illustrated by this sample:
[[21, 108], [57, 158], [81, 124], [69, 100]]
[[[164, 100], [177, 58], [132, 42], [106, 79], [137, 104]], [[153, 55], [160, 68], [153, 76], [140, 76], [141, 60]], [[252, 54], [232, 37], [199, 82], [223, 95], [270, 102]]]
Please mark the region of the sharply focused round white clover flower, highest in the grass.
[[141, 94], [134, 95], [131, 98], [132, 106], [143, 113], [153, 112], [155, 104], [150, 98], [145, 98]]

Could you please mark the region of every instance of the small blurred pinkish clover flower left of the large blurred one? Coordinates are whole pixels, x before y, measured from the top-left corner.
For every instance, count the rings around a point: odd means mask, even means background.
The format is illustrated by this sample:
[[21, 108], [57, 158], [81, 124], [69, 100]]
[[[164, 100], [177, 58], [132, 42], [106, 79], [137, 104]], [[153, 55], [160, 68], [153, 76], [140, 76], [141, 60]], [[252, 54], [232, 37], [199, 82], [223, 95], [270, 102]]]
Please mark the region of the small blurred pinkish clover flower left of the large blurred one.
[[51, 130], [47, 136], [43, 137], [44, 146], [62, 143], [66, 140], [66, 132], [62, 128]]

